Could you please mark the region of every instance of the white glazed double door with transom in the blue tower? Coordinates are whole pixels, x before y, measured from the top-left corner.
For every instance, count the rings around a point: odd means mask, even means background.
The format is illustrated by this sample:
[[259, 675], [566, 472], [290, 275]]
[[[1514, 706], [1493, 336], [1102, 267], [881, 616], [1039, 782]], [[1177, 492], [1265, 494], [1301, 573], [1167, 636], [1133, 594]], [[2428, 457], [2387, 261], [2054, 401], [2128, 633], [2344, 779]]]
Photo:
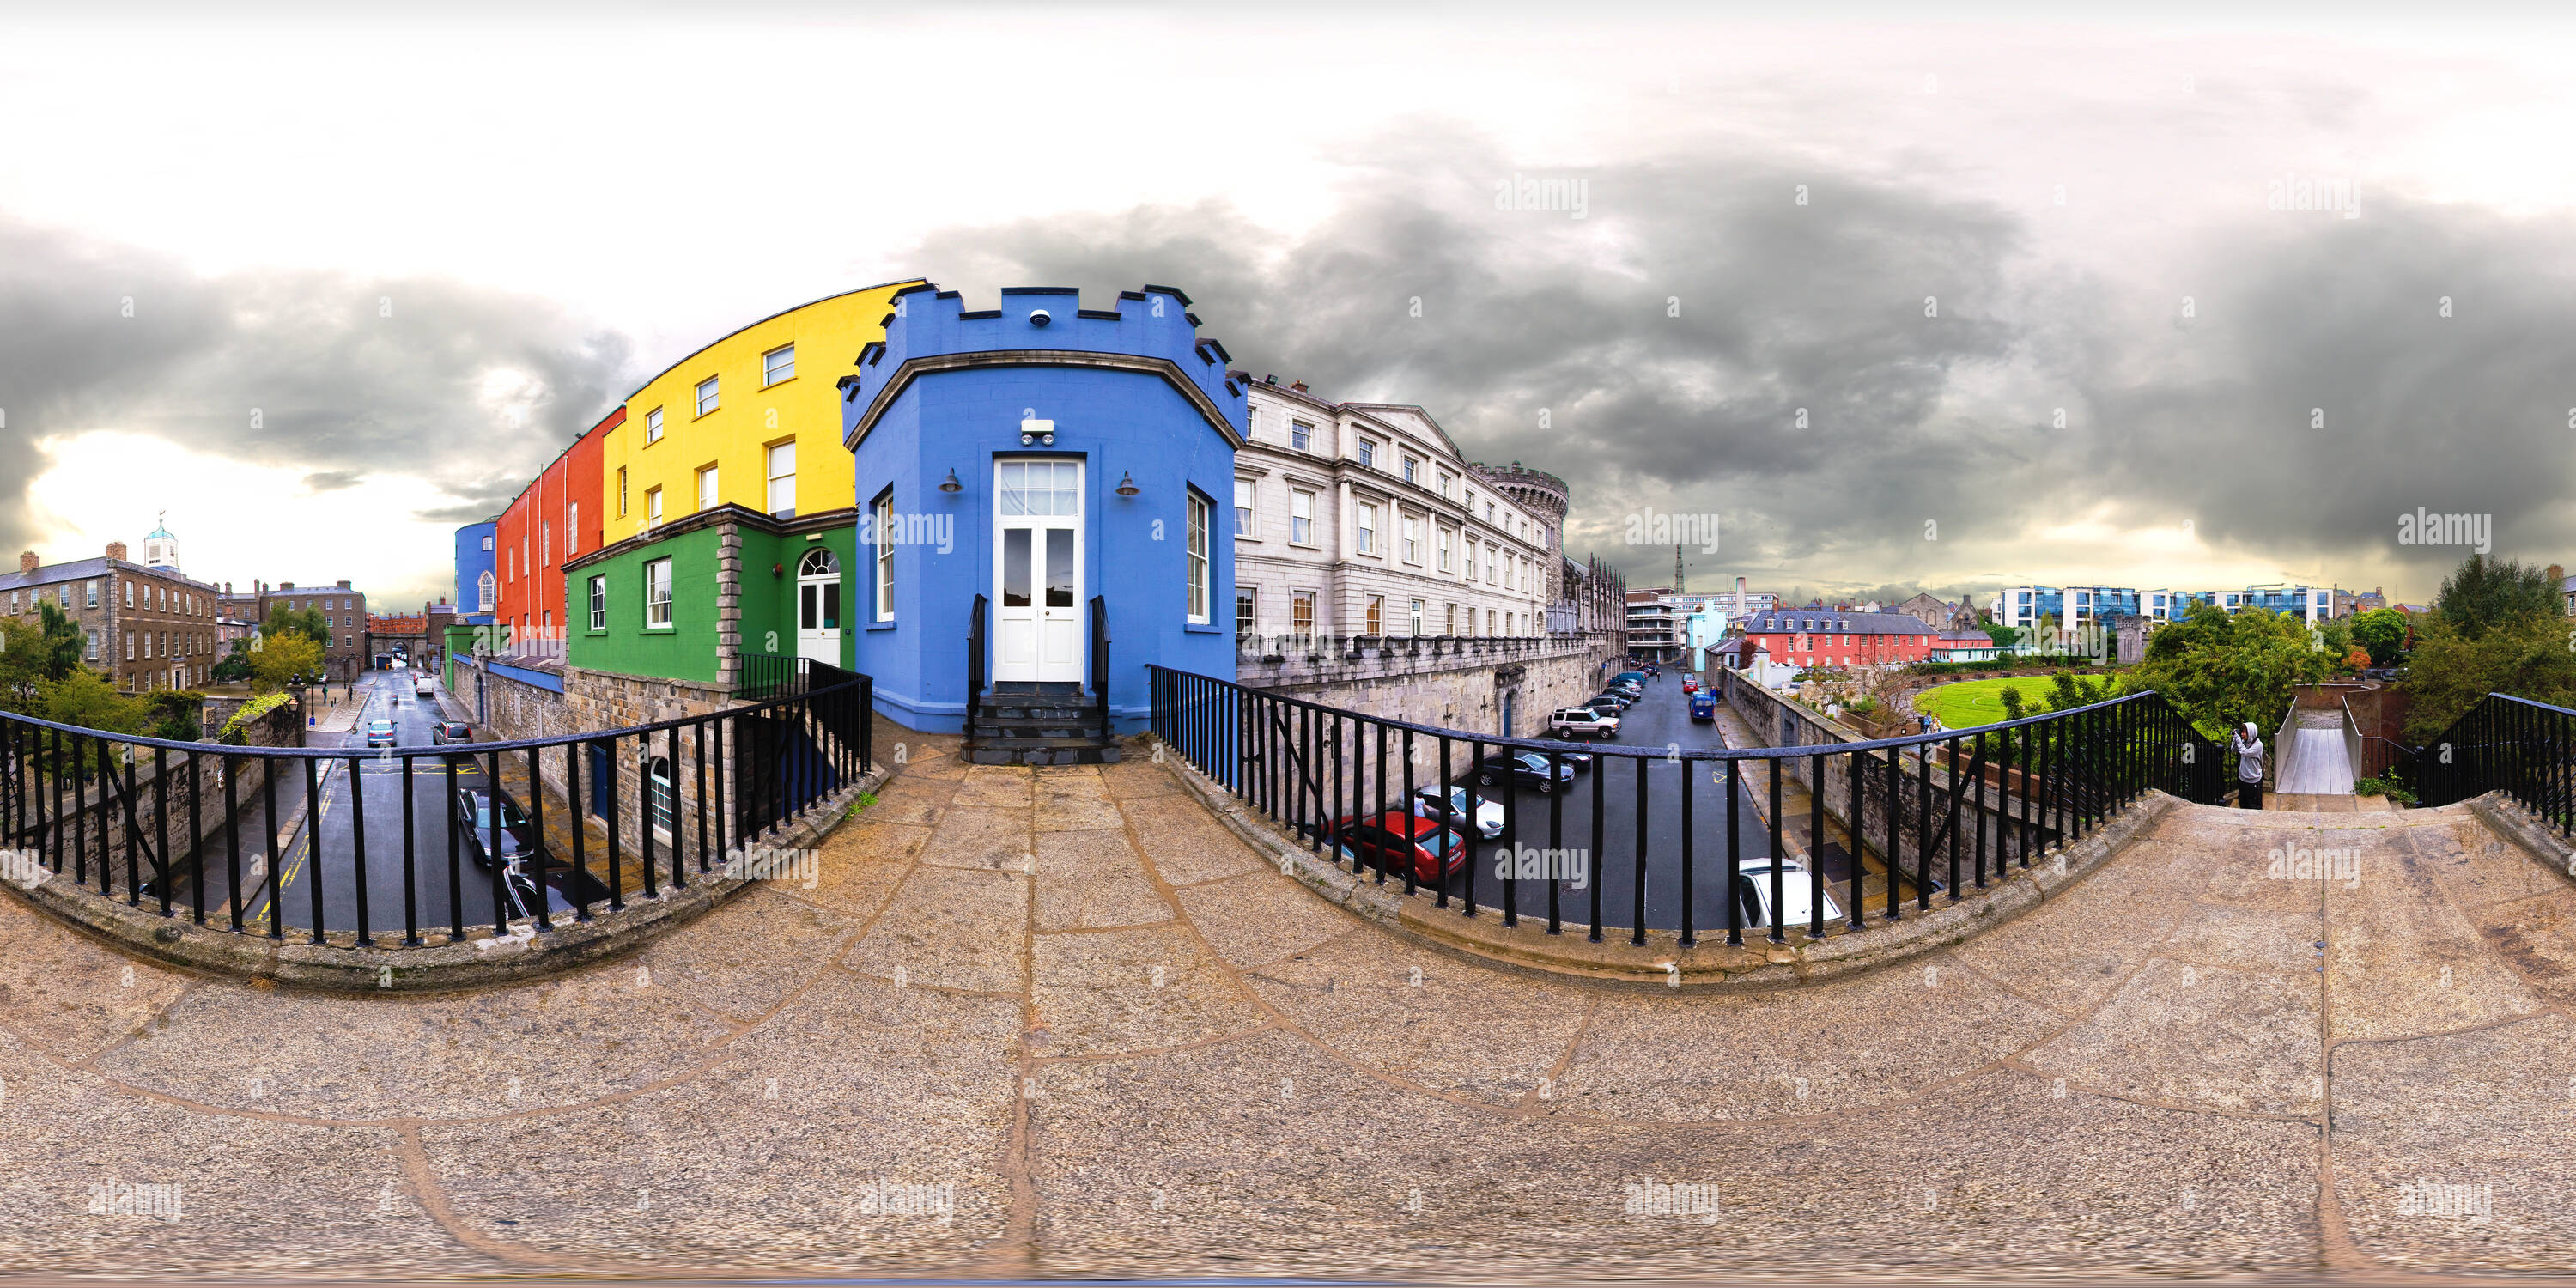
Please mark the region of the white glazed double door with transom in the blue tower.
[[1082, 461], [994, 471], [992, 677], [1082, 683]]

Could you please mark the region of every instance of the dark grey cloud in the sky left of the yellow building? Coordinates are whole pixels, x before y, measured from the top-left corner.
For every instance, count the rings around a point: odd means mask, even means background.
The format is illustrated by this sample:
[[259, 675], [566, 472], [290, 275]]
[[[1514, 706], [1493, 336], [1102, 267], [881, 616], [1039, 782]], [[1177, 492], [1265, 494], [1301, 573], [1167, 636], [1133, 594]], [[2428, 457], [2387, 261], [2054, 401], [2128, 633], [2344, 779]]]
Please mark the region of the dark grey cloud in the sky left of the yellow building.
[[459, 523], [482, 518], [623, 394], [626, 366], [621, 337], [533, 299], [443, 278], [209, 278], [10, 222], [0, 335], [0, 546], [33, 536], [33, 443], [80, 430], [299, 469], [317, 492], [412, 474], [459, 497]]

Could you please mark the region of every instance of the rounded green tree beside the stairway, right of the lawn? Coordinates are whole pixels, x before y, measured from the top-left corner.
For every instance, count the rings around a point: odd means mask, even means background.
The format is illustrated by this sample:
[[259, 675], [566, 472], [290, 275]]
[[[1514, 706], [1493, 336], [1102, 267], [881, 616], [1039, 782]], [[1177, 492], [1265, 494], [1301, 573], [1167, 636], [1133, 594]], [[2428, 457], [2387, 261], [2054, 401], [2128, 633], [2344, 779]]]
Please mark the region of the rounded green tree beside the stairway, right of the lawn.
[[2244, 721], [2277, 724], [2290, 708], [2290, 685], [2331, 677], [2339, 657], [2318, 644], [2321, 636], [2290, 613], [2226, 613], [2195, 603], [2182, 621], [2148, 636], [2128, 688], [2164, 693], [2215, 742]]

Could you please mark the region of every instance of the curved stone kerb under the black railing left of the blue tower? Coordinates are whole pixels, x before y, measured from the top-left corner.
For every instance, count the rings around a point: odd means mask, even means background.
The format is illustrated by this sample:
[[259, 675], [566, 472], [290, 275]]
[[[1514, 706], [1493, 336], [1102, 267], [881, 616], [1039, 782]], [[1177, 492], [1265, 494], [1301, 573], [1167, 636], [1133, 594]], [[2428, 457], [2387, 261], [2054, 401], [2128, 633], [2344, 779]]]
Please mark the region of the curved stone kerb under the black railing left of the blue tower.
[[[850, 811], [860, 793], [881, 791], [891, 768], [876, 768], [866, 778], [832, 793], [819, 814], [809, 817], [788, 835], [765, 848], [806, 850], [822, 848]], [[600, 912], [590, 922], [556, 922], [544, 940], [533, 938], [533, 922], [515, 935], [489, 930], [464, 943], [435, 943], [402, 948], [402, 930], [379, 930], [374, 945], [358, 945], [353, 933], [335, 933], [330, 943], [270, 940], [265, 935], [234, 935], [188, 917], [162, 917], [139, 907], [126, 907], [70, 881], [46, 881], [36, 889], [10, 884], [13, 894], [44, 912], [70, 922], [108, 948], [139, 953], [167, 966], [209, 971], [240, 979], [270, 979], [276, 984], [319, 992], [453, 992], [487, 984], [513, 984], [541, 979], [629, 953], [677, 930], [706, 912], [732, 902], [755, 881], [703, 876], [701, 881], [665, 891], [657, 899], [631, 899], [623, 912]], [[433, 938], [425, 927], [422, 938]], [[446, 938], [446, 933], [435, 933]]]

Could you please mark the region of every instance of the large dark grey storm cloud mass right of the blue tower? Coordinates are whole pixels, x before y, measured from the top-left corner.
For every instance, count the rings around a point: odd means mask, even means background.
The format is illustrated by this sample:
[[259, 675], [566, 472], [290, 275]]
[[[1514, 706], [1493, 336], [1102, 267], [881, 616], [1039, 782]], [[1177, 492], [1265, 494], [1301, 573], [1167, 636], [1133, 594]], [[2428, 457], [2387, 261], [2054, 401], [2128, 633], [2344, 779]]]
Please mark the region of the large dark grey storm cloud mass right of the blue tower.
[[[1182, 286], [1255, 376], [1419, 402], [1471, 459], [1566, 477], [1569, 549], [1638, 585], [1672, 577], [1669, 546], [1620, 544], [1643, 505], [1726, 518], [1695, 587], [1798, 562], [1770, 582], [1862, 598], [2030, 577], [1991, 549], [1940, 559], [2105, 500], [2329, 574], [2354, 549], [2427, 580], [2458, 562], [2393, 544], [2416, 505], [2494, 513], [2499, 546], [2553, 559], [2576, 538], [2553, 510], [2576, 415], [2563, 219], [2259, 211], [2120, 255], [2197, 265], [2166, 294], [2035, 263], [2020, 214], [1777, 157], [1566, 170], [1422, 126], [1352, 165], [1293, 240], [1231, 206], [1146, 206], [948, 229], [914, 263], [979, 291]], [[1494, 209], [1515, 175], [1584, 178], [1584, 219]]]

